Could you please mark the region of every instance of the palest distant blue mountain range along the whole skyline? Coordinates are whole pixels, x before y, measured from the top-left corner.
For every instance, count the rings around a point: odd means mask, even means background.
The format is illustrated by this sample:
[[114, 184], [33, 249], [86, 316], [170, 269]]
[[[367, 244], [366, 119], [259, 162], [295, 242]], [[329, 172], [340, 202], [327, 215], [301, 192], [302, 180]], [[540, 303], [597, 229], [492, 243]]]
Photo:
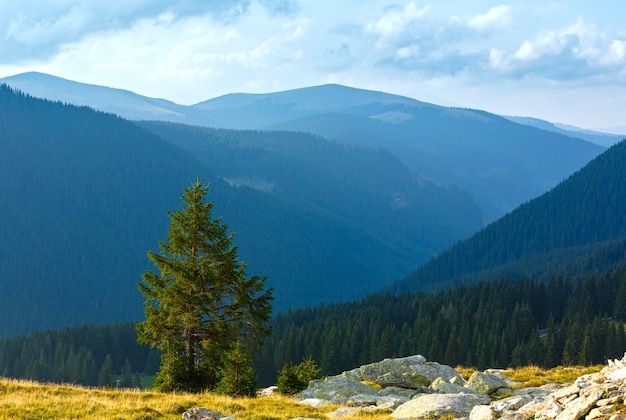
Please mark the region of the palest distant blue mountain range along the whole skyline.
[[133, 120], [300, 131], [382, 148], [416, 174], [469, 192], [485, 221], [541, 195], [604, 150], [578, 138], [574, 130], [564, 135], [482, 111], [341, 85], [235, 93], [182, 106], [39, 73], [2, 80], [35, 96], [89, 105]]

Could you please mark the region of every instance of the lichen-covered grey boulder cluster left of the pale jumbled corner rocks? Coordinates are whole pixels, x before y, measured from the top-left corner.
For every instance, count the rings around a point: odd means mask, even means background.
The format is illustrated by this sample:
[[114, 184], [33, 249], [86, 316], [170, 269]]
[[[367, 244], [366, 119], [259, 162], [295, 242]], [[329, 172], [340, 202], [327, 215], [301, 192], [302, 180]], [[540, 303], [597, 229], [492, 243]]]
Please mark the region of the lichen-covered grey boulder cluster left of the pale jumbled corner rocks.
[[362, 409], [386, 409], [396, 418], [468, 417], [474, 406], [491, 401], [487, 392], [476, 389], [496, 389], [492, 383], [498, 380], [509, 386], [497, 374], [487, 375], [482, 381], [476, 379], [471, 385], [450, 366], [427, 362], [416, 355], [385, 359], [311, 381], [297, 398], [304, 404], [325, 401]]

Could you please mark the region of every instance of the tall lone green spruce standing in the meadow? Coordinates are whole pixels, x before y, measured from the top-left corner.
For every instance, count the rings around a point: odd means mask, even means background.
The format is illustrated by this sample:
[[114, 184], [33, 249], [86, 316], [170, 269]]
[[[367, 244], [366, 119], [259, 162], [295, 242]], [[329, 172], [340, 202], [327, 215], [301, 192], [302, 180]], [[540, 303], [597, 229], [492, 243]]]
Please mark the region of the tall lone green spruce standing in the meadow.
[[196, 181], [182, 195], [182, 210], [168, 211], [167, 242], [148, 251], [161, 274], [143, 273], [146, 320], [138, 341], [162, 351], [155, 385], [164, 391], [214, 388], [223, 356], [235, 341], [254, 349], [269, 334], [272, 290], [264, 277], [246, 278], [233, 234], [212, 220], [208, 186]]

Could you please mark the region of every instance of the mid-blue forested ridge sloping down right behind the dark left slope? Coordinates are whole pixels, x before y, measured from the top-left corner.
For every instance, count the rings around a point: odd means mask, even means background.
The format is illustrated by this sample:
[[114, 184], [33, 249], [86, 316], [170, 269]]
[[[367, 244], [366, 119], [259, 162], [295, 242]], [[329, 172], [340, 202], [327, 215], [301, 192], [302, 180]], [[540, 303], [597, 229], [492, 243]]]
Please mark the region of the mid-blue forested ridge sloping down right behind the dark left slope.
[[415, 264], [482, 226], [469, 194], [415, 175], [385, 150], [306, 133], [138, 124], [188, 150], [227, 182], [319, 209], [390, 244]]

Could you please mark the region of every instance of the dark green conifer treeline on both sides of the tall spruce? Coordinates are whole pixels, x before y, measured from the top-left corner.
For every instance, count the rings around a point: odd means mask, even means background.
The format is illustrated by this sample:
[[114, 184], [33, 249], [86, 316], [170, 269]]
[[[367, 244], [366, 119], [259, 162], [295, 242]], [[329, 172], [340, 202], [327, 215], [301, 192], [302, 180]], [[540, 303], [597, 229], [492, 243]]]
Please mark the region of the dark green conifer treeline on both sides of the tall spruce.
[[[309, 357], [326, 375], [413, 354], [479, 369], [596, 364], [624, 354], [625, 322], [626, 264], [548, 282], [376, 294], [279, 314], [255, 371], [265, 386], [285, 363]], [[109, 384], [112, 375], [126, 386], [154, 374], [159, 357], [136, 343], [130, 323], [66, 328], [0, 341], [0, 375], [85, 385]]]

